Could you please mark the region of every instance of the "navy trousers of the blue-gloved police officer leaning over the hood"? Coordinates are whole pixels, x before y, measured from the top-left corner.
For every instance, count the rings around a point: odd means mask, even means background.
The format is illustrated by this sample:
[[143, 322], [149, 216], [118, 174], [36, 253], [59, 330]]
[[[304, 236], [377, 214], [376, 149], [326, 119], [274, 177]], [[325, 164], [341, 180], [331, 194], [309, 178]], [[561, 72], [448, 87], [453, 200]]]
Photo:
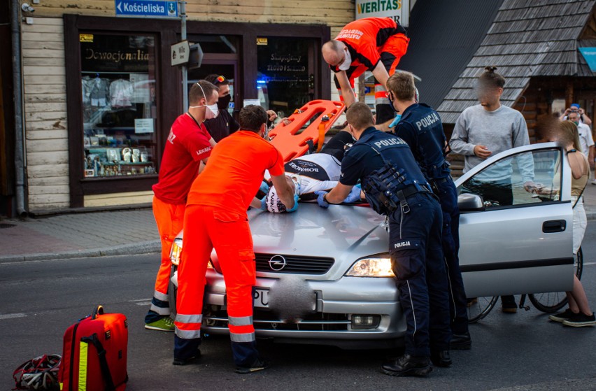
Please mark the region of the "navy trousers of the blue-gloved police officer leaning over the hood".
[[408, 213], [397, 208], [389, 216], [389, 253], [406, 317], [406, 353], [427, 357], [431, 350], [448, 350], [451, 339], [443, 217], [432, 194], [406, 201]]

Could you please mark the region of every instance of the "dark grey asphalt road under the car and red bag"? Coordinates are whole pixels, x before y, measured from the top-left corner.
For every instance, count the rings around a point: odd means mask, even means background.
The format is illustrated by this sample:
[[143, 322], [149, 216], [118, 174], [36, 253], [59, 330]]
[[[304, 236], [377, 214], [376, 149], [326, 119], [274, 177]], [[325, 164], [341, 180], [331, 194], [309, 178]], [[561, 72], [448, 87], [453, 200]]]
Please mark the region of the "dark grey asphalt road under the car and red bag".
[[[582, 277], [596, 309], [596, 223], [583, 242]], [[173, 334], [148, 331], [159, 255], [0, 264], [0, 390], [13, 388], [13, 370], [44, 353], [62, 354], [62, 336], [96, 304], [129, 319], [127, 390], [596, 390], [596, 327], [549, 322], [535, 308], [504, 314], [495, 308], [471, 325], [473, 348], [452, 353], [453, 366], [428, 378], [381, 374], [383, 350], [259, 341], [267, 371], [235, 374], [229, 340], [208, 337], [201, 362], [171, 365]]]

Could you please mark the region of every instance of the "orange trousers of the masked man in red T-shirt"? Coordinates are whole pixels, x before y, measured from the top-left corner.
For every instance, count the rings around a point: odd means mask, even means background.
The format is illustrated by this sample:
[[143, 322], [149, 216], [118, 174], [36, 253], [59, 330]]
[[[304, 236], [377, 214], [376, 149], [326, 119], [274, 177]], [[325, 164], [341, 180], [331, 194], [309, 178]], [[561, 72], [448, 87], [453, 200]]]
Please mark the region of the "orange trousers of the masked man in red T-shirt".
[[[168, 301], [168, 285], [171, 271], [170, 250], [173, 240], [182, 231], [184, 221], [185, 204], [168, 204], [153, 197], [153, 216], [157, 223], [159, 239], [162, 241], [162, 264], [157, 271], [155, 279], [155, 292], [153, 297], [159, 301]], [[159, 315], [169, 315], [169, 307], [159, 307], [151, 304], [151, 311]]]

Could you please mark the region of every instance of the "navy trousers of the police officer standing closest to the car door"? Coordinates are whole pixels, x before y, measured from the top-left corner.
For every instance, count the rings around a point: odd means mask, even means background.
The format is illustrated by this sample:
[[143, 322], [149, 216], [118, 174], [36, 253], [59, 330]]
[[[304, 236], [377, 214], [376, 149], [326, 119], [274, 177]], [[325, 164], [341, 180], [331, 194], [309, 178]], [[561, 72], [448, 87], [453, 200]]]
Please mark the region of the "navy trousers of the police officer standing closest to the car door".
[[460, 271], [460, 209], [457, 208], [457, 189], [448, 177], [437, 183], [437, 196], [443, 211], [443, 253], [447, 264], [449, 283], [449, 308], [453, 334], [468, 332], [467, 299]]

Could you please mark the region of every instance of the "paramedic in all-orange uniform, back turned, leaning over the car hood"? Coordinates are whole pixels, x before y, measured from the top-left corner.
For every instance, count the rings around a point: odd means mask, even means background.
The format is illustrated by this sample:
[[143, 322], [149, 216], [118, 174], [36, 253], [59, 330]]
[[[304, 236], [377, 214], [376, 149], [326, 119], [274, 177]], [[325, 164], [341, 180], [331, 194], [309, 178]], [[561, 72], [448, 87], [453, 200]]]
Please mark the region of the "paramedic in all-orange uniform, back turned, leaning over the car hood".
[[[265, 369], [255, 342], [253, 285], [255, 253], [246, 210], [265, 170], [288, 211], [298, 204], [286, 183], [283, 157], [265, 141], [267, 113], [260, 106], [240, 111], [240, 129], [213, 148], [206, 169], [194, 180], [184, 214], [184, 250], [178, 266], [178, 313], [174, 365], [199, 357], [205, 273], [215, 248], [226, 285], [229, 336], [236, 372]], [[260, 202], [259, 202], [260, 204]]]

